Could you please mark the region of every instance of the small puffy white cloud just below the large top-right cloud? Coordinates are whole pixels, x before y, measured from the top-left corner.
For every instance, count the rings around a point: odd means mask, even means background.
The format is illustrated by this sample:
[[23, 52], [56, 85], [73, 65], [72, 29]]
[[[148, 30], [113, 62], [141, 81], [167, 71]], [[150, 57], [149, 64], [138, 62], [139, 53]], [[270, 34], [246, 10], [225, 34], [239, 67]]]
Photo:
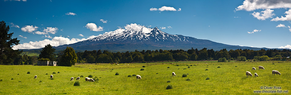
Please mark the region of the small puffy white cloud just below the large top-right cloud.
[[274, 10], [271, 9], [266, 9], [265, 11], [261, 11], [260, 12], [254, 12], [251, 15], [253, 15], [255, 18], [259, 19], [259, 20], [266, 20], [268, 18], [272, 18], [273, 15], [275, 15]]

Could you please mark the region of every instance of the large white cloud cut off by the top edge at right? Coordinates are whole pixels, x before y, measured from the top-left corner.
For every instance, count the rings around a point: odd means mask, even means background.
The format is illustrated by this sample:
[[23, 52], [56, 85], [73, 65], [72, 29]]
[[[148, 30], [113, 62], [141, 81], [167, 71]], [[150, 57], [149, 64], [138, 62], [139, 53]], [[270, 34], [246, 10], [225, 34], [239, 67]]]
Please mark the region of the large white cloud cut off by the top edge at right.
[[243, 5], [238, 6], [235, 11], [256, 9], [291, 8], [290, 0], [245, 0]]

